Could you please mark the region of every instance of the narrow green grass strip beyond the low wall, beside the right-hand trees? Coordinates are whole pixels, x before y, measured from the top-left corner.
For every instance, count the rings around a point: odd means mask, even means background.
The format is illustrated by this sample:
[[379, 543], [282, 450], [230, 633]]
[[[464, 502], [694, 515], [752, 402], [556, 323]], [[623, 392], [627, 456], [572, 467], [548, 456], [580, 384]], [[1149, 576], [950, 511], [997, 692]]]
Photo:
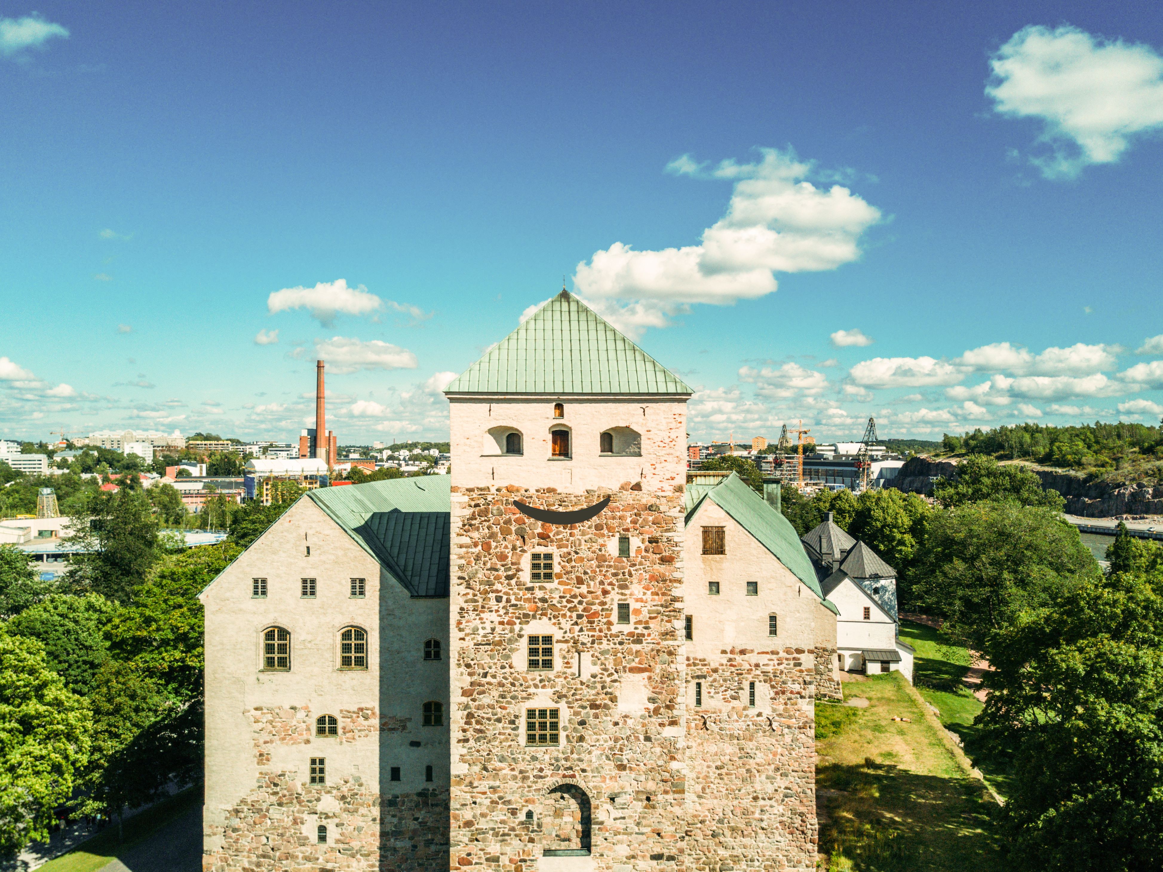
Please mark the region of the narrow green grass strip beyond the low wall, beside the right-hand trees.
[[932, 627], [920, 623], [901, 621], [900, 637], [916, 649], [914, 686], [927, 702], [936, 706], [941, 723], [961, 736], [965, 753], [990, 786], [1005, 796], [1008, 792], [1005, 766], [982, 755], [976, 746], [980, 731], [973, 726], [973, 719], [985, 703], [961, 682], [973, 663], [972, 655], [965, 648], [950, 644]]

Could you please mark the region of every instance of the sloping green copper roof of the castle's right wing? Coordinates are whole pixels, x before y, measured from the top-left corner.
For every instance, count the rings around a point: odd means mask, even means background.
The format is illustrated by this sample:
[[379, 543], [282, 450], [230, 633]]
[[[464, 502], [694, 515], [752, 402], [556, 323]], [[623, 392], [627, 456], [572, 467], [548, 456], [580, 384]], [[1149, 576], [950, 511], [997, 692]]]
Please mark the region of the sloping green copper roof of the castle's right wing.
[[716, 485], [697, 485], [688, 489], [686, 496], [686, 522], [690, 523], [705, 500], [712, 500], [735, 522], [750, 533], [765, 549], [776, 556], [784, 566], [790, 569], [804, 586], [820, 598], [830, 610], [840, 614], [840, 609], [825, 598], [815, 569], [807, 558], [804, 544], [795, 535], [795, 528], [780, 513], [734, 472]]

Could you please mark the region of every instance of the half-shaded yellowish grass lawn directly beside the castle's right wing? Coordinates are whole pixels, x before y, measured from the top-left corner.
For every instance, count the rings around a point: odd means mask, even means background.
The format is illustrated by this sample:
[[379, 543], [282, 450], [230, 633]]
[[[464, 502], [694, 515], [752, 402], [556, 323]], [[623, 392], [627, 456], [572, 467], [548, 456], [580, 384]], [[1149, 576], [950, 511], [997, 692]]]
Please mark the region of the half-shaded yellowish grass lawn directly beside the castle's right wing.
[[[957, 765], [899, 673], [846, 681], [866, 708], [818, 702], [820, 852], [829, 872], [1003, 870], [980, 782]], [[892, 716], [911, 722], [893, 721]]]

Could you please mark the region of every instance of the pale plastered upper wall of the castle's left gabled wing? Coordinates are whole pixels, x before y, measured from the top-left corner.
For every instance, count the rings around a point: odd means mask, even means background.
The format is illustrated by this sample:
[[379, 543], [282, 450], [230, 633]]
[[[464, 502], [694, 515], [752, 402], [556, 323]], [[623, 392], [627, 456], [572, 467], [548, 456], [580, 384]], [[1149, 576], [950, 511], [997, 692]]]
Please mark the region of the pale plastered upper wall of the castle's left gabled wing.
[[[311, 545], [311, 556], [306, 548]], [[255, 599], [251, 580], [265, 578], [267, 595]], [[316, 579], [316, 595], [300, 595], [300, 579]], [[350, 595], [350, 579], [366, 579], [366, 596]], [[376, 709], [368, 735], [355, 742], [315, 738], [309, 744], [264, 745], [264, 770], [298, 771], [309, 757], [327, 759], [328, 782], [358, 775], [372, 791], [390, 766], [400, 766], [392, 792], [448, 784], [448, 600], [412, 598], [384, 573], [308, 498], [300, 499], [200, 595], [206, 607], [206, 806], [207, 825], [255, 789], [259, 774], [252, 713], [276, 707], [294, 722], [341, 710]], [[262, 670], [261, 635], [277, 624], [291, 632], [291, 671]], [[345, 626], [368, 635], [369, 667], [337, 669], [337, 635]], [[426, 662], [423, 643], [438, 638], [443, 659]], [[426, 701], [444, 706], [443, 727], [422, 727]], [[309, 715], [302, 709], [309, 706]], [[292, 707], [297, 707], [298, 710]], [[411, 719], [401, 731], [379, 731], [385, 719]], [[312, 729], [312, 732], [314, 730]], [[419, 741], [420, 748], [409, 743]]]

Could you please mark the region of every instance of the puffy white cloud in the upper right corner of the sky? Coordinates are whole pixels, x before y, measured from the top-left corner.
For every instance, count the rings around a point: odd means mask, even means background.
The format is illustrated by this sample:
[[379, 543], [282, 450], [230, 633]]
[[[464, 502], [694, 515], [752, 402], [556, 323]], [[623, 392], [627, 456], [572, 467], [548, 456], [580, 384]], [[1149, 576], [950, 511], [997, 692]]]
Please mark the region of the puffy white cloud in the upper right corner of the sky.
[[1163, 58], [1150, 45], [1096, 38], [1076, 27], [1025, 27], [990, 59], [985, 93], [1008, 117], [1043, 122], [1032, 158], [1048, 179], [1115, 163], [1130, 138], [1163, 128]]

